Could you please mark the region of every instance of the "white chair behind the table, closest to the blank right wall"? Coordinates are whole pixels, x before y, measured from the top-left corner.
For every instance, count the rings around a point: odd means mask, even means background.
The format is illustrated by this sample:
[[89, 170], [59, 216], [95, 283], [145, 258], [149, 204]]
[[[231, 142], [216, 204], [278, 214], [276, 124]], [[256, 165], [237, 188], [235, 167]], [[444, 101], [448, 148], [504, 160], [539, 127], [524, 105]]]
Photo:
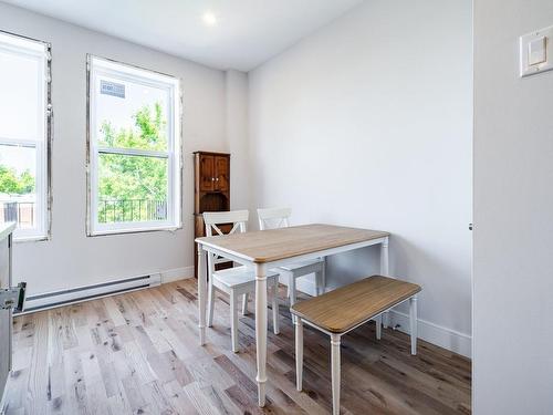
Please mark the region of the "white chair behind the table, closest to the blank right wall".
[[[288, 219], [291, 214], [292, 209], [290, 208], [258, 209], [259, 228], [261, 230], [288, 228]], [[310, 261], [293, 263], [292, 266], [280, 267], [274, 270], [282, 274], [286, 280], [290, 305], [295, 304], [295, 280], [300, 277], [315, 273], [316, 294], [321, 295], [324, 293], [326, 288], [325, 264], [325, 258], [317, 258]]]

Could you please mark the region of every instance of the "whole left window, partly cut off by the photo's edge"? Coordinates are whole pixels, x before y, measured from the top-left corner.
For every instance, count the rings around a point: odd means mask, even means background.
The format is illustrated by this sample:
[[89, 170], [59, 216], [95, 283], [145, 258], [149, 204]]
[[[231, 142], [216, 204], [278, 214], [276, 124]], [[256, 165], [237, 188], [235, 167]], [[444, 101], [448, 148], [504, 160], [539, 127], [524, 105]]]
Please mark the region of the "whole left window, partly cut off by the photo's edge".
[[0, 32], [0, 222], [49, 236], [50, 45]]

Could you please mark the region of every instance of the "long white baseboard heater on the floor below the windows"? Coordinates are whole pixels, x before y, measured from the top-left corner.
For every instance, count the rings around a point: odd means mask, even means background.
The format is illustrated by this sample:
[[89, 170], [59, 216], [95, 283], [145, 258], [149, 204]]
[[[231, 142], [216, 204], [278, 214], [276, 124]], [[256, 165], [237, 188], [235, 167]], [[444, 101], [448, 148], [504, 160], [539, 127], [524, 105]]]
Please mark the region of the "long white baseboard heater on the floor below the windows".
[[69, 290], [29, 295], [25, 300], [24, 310], [19, 314], [51, 309], [54, 307], [67, 305], [75, 302], [93, 300], [101, 297], [114, 295], [128, 291], [142, 290], [145, 288], [159, 286], [160, 283], [161, 274], [153, 273], [150, 276], [133, 277], [92, 286], [72, 288]]

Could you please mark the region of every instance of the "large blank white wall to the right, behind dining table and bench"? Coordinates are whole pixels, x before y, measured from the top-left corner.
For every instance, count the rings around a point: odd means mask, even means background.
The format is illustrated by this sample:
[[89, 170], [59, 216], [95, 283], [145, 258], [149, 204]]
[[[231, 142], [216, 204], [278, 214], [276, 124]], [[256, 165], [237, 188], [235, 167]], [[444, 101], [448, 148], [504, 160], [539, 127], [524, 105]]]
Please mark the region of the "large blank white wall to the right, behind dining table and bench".
[[[471, 56], [470, 0], [372, 0], [249, 73], [251, 208], [390, 231], [421, 335], [465, 354]], [[332, 260], [331, 284], [378, 272], [377, 253]]]

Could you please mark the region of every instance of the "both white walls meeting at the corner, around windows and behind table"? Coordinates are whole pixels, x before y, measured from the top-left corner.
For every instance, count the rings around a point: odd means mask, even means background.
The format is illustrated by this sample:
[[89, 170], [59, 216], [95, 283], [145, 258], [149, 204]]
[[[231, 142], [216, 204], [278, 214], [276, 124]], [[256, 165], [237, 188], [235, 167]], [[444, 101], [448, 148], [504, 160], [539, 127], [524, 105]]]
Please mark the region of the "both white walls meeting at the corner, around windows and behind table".
[[[14, 249], [31, 293], [191, 273], [190, 153], [230, 151], [232, 208], [252, 228], [258, 206], [285, 205], [296, 224], [392, 231], [392, 272], [425, 289], [421, 335], [470, 353], [470, 1], [365, 2], [249, 76], [4, 3], [0, 28], [53, 52], [53, 238]], [[182, 230], [85, 237], [86, 53], [182, 79]], [[377, 253], [334, 258], [331, 284], [378, 272]]]

